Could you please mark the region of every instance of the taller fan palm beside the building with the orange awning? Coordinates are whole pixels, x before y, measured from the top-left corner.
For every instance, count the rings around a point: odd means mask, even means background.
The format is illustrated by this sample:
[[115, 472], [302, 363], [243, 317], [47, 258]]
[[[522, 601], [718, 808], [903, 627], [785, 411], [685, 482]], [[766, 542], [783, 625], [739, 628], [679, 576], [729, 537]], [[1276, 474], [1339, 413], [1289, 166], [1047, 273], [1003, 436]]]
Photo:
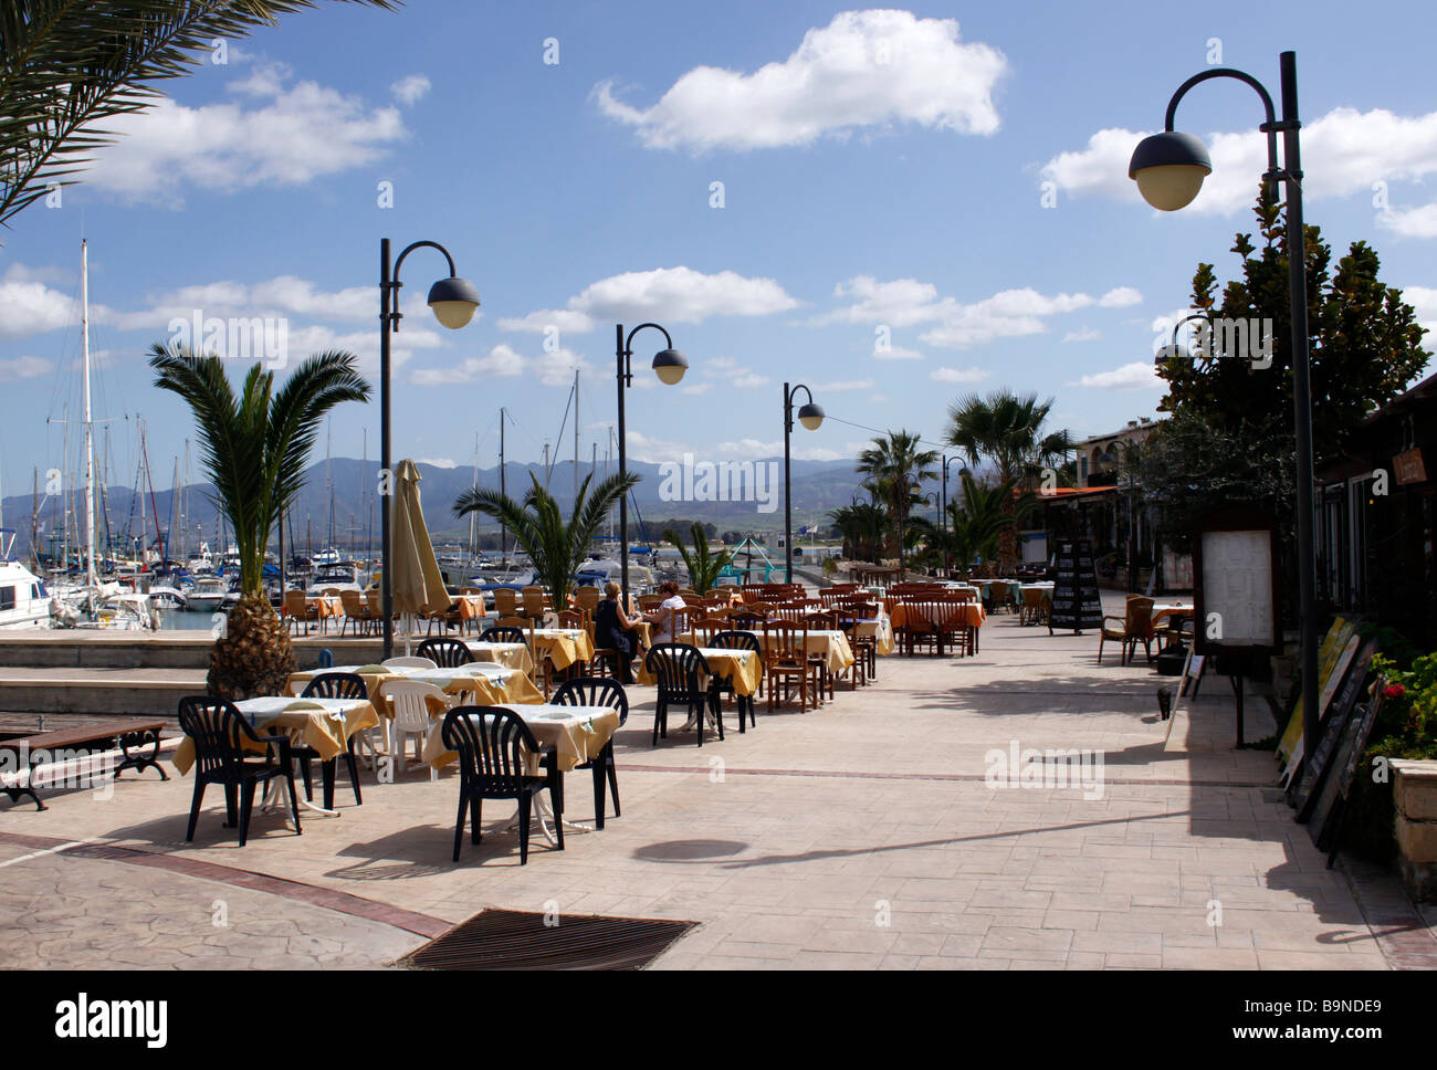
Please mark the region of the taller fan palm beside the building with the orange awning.
[[[986, 398], [970, 394], [948, 406], [948, 445], [957, 447], [969, 464], [989, 461], [1000, 484], [1009, 481], [1022, 491], [1033, 490], [1045, 468], [1058, 470], [1073, 450], [1068, 431], [1043, 431], [1053, 399], [1036, 394], [996, 391]], [[1012, 494], [1006, 498], [1013, 501]], [[1004, 508], [1013, 513], [1012, 506]], [[1016, 524], [999, 540], [999, 572], [1017, 564]]]

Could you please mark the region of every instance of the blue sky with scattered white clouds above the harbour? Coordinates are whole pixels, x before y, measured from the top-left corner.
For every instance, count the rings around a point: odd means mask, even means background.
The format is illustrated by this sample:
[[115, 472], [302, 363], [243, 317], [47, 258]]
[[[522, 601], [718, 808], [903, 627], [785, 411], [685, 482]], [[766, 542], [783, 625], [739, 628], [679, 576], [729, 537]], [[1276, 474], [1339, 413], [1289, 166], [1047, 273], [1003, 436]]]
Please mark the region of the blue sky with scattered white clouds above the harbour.
[[[974, 389], [1055, 396], [1079, 435], [1150, 417], [1158, 320], [1200, 260], [1226, 279], [1252, 230], [1259, 102], [1236, 82], [1184, 101], [1178, 128], [1216, 165], [1187, 211], [1142, 205], [1125, 165], [1217, 52], [1273, 93], [1277, 53], [1298, 52], [1309, 223], [1339, 251], [1372, 241], [1437, 326], [1434, 23], [1415, 3], [412, 0], [286, 17], [116, 122], [86, 181], [3, 236], [4, 491], [62, 465], [82, 236], [114, 483], [132, 480], [137, 414], [157, 485], [193, 438], [144, 363], [177, 316], [283, 317], [289, 359], [335, 346], [375, 372], [381, 237], [444, 243], [483, 296], [444, 330], [422, 306], [443, 259], [407, 261], [395, 457], [467, 465], [479, 435], [490, 467], [504, 405], [510, 458], [537, 460], [578, 368], [581, 452], [602, 458], [614, 323], [641, 319], [691, 360], [660, 386], [661, 336], [635, 340], [629, 450], [651, 461], [775, 455], [783, 381], [838, 418], [795, 432], [813, 458], [851, 455], [854, 425], [940, 441]], [[378, 421], [376, 402], [338, 415], [335, 455], [361, 455], [368, 429], [376, 457]]]

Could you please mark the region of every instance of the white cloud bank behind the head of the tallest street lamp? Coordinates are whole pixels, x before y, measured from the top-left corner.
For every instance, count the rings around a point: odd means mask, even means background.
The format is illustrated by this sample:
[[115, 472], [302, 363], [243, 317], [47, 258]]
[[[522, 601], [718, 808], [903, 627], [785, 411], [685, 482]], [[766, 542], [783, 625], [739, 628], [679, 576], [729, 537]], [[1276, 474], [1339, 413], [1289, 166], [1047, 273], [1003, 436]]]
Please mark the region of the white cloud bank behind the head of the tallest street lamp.
[[[1085, 148], [1049, 159], [1042, 178], [1071, 195], [1096, 192], [1137, 203], [1128, 161], [1144, 136], [1147, 132], [1098, 131]], [[1209, 134], [1203, 141], [1213, 158], [1213, 174], [1186, 211], [1227, 215], [1250, 207], [1267, 169], [1266, 138], [1256, 121], [1250, 131]], [[1335, 108], [1303, 125], [1302, 169], [1308, 200], [1369, 195], [1375, 182], [1420, 181], [1437, 174], [1437, 112], [1403, 116], [1381, 108]], [[1401, 215], [1394, 213], [1392, 221], [1400, 223]]]

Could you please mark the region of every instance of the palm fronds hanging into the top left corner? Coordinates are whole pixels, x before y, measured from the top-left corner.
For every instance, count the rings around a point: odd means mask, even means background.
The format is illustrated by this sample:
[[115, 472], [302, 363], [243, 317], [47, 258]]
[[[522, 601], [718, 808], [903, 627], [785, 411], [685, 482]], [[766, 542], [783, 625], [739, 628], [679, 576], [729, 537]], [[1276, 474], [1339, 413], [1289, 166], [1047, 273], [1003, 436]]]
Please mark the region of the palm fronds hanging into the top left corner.
[[[346, 0], [392, 10], [391, 0]], [[160, 98], [214, 49], [315, 0], [26, 0], [0, 16], [0, 223], [65, 185], [102, 125]]]

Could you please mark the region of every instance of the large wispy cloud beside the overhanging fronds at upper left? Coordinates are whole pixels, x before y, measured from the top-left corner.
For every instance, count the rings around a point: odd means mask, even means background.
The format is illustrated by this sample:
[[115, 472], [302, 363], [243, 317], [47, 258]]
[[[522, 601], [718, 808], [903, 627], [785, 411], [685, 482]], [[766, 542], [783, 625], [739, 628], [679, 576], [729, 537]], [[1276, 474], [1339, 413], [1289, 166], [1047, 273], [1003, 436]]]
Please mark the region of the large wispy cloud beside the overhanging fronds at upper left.
[[378, 159], [407, 131], [398, 108], [369, 108], [318, 82], [286, 88], [283, 68], [259, 69], [230, 89], [259, 101], [187, 108], [168, 96], [106, 121], [83, 181], [128, 201], [178, 207], [182, 188], [234, 192], [303, 185]]

